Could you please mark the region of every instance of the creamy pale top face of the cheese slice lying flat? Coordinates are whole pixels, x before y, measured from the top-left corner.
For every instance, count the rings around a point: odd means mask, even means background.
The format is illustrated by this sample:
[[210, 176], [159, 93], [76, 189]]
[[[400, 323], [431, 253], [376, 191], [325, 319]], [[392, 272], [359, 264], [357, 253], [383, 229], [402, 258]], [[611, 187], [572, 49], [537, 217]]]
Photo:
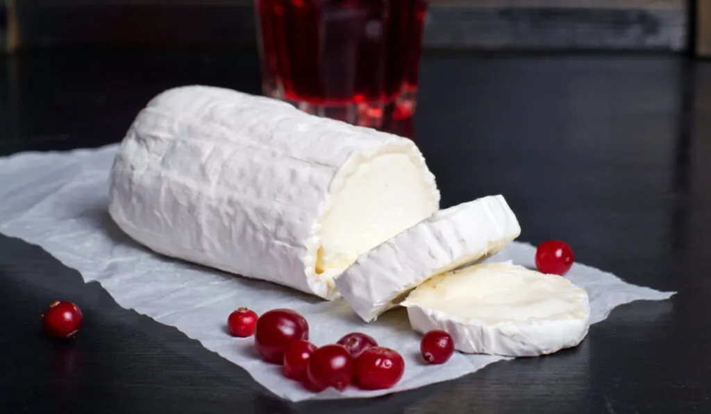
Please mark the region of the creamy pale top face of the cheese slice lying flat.
[[485, 263], [434, 276], [408, 305], [485, 323], [584, 317], [584, 290], [560, 276], [509, 263]]

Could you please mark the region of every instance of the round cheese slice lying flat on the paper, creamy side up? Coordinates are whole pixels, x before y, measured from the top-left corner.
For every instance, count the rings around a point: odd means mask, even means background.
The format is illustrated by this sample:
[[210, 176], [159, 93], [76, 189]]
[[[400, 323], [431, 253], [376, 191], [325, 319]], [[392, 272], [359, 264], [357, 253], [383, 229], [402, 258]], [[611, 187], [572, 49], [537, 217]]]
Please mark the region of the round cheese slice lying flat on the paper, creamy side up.
[[485, 263], [435, 276], [402, 303], [417, 332], [443, 329], [467, 353], [537, 356], [575, 347], [588, 332], [585, 290], [561, 276]]

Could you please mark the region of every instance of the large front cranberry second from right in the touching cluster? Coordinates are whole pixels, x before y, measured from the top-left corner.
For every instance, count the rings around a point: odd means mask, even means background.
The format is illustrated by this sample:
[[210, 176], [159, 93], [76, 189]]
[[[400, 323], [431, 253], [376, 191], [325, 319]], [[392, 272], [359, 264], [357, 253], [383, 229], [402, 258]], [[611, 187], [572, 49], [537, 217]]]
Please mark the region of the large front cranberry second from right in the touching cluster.
[[353, 382], [353, 356], [343, 345], [324, 345], [316, 349], [306, 366], [309, 384], [316, 390], [328, 387], [343, 391]]

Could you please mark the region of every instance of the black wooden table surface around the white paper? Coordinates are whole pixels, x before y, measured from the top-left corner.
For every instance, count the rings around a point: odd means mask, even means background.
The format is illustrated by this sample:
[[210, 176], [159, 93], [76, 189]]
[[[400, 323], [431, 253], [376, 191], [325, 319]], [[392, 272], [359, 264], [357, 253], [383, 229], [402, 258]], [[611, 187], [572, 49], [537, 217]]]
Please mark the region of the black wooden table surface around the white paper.
[[[196, 83], [258, 93], [256, 55], [0, 58], [0, 155], [117, 142], [154, 94]], [[413, 131], [443, 207], [501, 193], [521, 240], [565, 240], [582, 263], [678, 295], [623, 305], [552, 356], [382, 398], [294, 404], [37, 246], [0, 236], [1, 412], [711, 412], [711, 64], [429, 53]], [[72, 341], [41, 330], [55, 299], [82, 307]]]

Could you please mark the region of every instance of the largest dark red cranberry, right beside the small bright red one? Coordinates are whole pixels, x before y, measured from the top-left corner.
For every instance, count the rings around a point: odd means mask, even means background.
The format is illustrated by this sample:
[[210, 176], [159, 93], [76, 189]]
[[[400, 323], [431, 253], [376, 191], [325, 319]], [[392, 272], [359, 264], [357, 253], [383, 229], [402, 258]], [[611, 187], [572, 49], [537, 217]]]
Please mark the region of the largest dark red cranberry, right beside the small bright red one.
[[284, 362], [284, 349], [289, 342], [309, 339], [309, 324], [291, 309], [274, 309], [257, 320], [255, 345], [262, 359], [272, 364]]

